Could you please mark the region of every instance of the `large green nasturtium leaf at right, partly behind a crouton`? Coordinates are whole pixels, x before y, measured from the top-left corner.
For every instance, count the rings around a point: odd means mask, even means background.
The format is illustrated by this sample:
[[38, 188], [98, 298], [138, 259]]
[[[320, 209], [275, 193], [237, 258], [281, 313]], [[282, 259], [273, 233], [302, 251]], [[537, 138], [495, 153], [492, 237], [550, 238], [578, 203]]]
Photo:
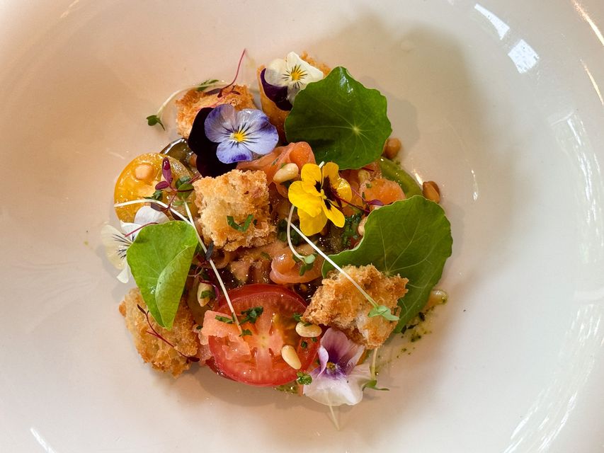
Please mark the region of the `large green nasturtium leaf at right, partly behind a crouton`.
[[[451, 256], [452, 242], [443, 208], [416, 195], [372, 211], [358, 245], [329, 258], [339, 266], [372, 264], [386, 275], [409, 279], [409, 291], [399, 299], [400, 331], [428, 302]], [[323, 275], [332, 269], [325, 261]]]

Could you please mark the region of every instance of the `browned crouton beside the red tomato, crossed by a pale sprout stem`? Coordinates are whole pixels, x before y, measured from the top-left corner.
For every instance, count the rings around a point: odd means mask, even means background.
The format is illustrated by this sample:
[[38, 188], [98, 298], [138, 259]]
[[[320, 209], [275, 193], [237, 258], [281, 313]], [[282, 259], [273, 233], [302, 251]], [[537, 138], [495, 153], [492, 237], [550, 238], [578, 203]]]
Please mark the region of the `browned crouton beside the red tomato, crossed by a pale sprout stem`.
[[[387, 277], [374, 265], [348, 265], [343, 270], [369, 294], [377, 304], [387, 306], [394, 314], [397, 301], [407, 292], [409, 280], [393, 275]], [[341, 273], [331, 271], [314, 293], [302, 319], [309, 323], [338, 328], [348, 338], [368, 349], [379, 348], [397, 326], [382, 316], [369, 317], [371, 303]]]

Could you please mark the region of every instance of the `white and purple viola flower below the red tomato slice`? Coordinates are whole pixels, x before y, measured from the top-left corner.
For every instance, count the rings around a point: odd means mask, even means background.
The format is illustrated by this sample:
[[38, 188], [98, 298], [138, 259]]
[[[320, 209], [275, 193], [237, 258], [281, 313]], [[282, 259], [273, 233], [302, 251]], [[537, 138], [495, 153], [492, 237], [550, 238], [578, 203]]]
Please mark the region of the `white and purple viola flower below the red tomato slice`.
[[372, 380], [369, 364], [357, 365], [363, 350], [343, 332], [327, 329], [319, 347], [320, 366], [309, 373], [312, 382], [304, 386], [304, 395], [326, 406], [360, 403], [363, 386]]

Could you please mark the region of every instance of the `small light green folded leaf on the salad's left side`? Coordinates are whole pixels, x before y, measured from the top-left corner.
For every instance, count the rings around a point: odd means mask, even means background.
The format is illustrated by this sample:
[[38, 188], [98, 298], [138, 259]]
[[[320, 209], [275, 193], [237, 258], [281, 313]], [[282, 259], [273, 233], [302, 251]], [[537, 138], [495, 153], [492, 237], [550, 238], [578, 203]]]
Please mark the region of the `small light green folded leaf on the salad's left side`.
[[157, 323], [172, 328], [198, 240], [186, 222], [147, 225], [126, 253], [144, 303]]

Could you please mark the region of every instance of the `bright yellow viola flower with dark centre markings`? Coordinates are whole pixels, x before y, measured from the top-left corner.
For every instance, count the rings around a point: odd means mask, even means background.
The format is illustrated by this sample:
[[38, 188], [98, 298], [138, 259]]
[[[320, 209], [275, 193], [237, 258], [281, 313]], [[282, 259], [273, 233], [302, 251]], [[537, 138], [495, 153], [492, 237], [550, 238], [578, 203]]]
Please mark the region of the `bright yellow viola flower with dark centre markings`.
[[302, 180], [290, 185], [287, 197], [298, 208], [300, 229], [307, 236], [317, 234], [327, 220], [344, 226], [342, 203], [353, 197], [351, 185], [340, 177], [338, 165], [328, 162], [322, 167], [305, 164], [300, 172]]

